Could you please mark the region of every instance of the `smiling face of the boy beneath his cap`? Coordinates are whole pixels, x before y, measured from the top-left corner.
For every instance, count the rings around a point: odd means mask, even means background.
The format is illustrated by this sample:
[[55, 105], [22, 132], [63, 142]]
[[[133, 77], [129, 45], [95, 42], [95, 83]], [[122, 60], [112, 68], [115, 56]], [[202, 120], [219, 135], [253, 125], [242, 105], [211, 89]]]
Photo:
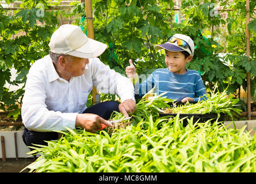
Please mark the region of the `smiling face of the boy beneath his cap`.
[[170, 72], [175, 74], [185, 74], [185, 66], [188, 62], [192, 60], [192, 56], [185, 56], [181, 52], [172, 52], [165, 50], [165, 63], [169, 68]]

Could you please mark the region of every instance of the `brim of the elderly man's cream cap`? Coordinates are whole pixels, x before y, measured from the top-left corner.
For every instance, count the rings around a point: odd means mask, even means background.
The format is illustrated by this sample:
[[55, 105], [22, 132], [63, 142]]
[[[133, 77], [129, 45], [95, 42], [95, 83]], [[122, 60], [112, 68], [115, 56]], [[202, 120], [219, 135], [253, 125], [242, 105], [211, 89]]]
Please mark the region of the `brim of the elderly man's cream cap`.
[[99, 41], [89, 39], [82, 47], [76, 49], [75, 51], [68, 52], [66, 54], [81, 58], [93, 58], [100, 56], [107, 48], [106, 44]]

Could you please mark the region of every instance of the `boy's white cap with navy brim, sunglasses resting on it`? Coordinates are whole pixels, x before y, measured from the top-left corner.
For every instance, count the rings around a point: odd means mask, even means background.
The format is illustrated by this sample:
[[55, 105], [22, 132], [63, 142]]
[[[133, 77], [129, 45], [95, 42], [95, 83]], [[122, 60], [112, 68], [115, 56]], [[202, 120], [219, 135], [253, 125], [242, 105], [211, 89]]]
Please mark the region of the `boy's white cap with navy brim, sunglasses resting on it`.
[[177, 42], [175, 43], [165, 43], [165, 44], [161, 44], [161, 45], [155, 45], [154, 49], [166, 49], [168, 51], [173, 51], [173, 52], [178, 52], [178, 51], [187, 51], [188, 53], [190, 53], [190, 55], [194, 55], [194, 50], [195, 50], [195, 45], [194, 45], [194, 41], [189, 37], [186, 36], [184, 34], [175, 34], [172, 37], [176, 37], [177, 39], [183, 40], [185, 41], [191, 48], [183, 48], [180, 47], [179, 45], [177, 45]]

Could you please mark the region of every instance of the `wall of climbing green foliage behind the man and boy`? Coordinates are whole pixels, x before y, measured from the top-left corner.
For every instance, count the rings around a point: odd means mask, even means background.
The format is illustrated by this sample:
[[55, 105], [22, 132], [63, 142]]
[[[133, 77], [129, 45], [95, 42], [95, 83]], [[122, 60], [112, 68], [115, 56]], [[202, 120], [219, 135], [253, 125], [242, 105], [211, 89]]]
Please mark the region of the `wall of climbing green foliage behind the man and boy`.
[[[0, 1], [3, 2], [3, 1]], [[7, 4], [13, 3], [5, 1]], [[84, 28], [85, 5], [71, 2], [71, 9], [51, 9], [61, 1], [25, 0], [22, 9], [9, 11], [0, 5], [0, 108], [10, 111], [9, 116], [20, 114], [24, 83], [29, 67], [35, 60], [49, 54], [51, 34], [61, 24], [75, 24]], [[164, 68], [164, 52], [155, 51], [154, 45], [164, 43], [172, 34], [187, 34], [196, 45], [195, 56], [187, 67], [198, 70], [205, 86], [229, 93], [236, 93], [242, 85], [246, 90], [246, 74], [251, 73], [251, 94], [256, 86], [255, 11], [256, 2], [250, 1], [251, 32], [250, 62], [246, 57], [245, 18], [246, 1], [182, 1], [181, 22], [175, 22], [175, 3], [167, 0], [96, 0], [92, 1], [95, 40], [109, 45], [100, 59], [110, 68], [125, 74], [125, 67], [132, 59], [139, 74], [151, 74]], [[230, 8], [227, 17], [216, 8]], [[213, 32], [211, 27], [213, 26]], [[220, 53], [224, 53], [220, 56]], [[10, 70], [17, 70], [11, 80]], [[6, 85], [8, 83], [8, 85]], [[21, 85], [10, 90], [10, 85]], [[91, 96], [87, 105], [90, 105]], [[104, 96], [105, 98], [113, 98]], [[92, 103], [91, 103], [92, 104]], [[244, 109], [246, 110], [246, 109]]]

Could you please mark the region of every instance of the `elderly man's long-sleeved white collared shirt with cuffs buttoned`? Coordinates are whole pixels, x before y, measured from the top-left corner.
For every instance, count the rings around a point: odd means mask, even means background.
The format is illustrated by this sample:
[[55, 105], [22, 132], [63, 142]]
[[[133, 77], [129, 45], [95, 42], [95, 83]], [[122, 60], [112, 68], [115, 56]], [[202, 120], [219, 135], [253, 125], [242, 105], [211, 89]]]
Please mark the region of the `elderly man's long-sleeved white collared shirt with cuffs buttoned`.
[[86, 110], [92, 86], [117, 94], [121, 102], [134, 98], [132, 82], [97, 57], [89, 59], [84, 74], [69, 82], [60, 78], [49, 55], [32, 64], [25, 84], [21, 116], [27, 129], [38, 132], [75, 128], [76, 116]]

